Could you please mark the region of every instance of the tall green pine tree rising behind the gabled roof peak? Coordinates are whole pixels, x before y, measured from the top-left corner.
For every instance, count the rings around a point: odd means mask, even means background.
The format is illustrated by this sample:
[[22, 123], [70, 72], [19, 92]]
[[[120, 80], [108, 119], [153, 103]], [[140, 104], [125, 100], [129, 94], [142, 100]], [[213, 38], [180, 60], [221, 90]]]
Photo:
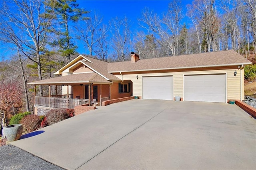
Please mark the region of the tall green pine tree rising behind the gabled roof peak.
[[[54, 13], [55, 24], [52, 27], [52, 33], [56, 35], [56, 39], [51, 45], [57, 46], [63, 57], [66, 58], [65, 63], [70, 62], [71, 55], [76, 53], [77, 46], [72, 43], [70, 26], [73, 22], [86, 20], [84, 17], [89, 11], [78, 8], [79, 4], [76, 0], [46, 0], [46, 6], [50, 7], [48, 13]], [[64, 30], [61, 29], [64, 27]]]

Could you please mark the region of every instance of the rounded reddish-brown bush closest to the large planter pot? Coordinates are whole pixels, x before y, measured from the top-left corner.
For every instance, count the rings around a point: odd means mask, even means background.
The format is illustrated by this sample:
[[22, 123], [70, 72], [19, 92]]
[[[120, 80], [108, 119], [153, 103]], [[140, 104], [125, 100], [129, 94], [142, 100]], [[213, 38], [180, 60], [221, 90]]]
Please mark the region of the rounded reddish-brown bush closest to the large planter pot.
[[37, 115], [27, 115], [20, 123], [23, 125], [23, 132], [33, 132], [40, 128], [41, 119]]

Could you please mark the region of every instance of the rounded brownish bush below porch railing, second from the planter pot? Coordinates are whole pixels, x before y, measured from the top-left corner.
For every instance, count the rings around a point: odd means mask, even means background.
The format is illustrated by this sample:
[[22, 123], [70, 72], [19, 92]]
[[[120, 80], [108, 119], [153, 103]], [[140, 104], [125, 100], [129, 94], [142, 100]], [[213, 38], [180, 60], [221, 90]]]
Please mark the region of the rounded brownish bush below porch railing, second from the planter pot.
[[46, 114], [46, 122], [48, 125], [58, 123], [68, 118], [69, 116], [66, 109], [52, 109]]

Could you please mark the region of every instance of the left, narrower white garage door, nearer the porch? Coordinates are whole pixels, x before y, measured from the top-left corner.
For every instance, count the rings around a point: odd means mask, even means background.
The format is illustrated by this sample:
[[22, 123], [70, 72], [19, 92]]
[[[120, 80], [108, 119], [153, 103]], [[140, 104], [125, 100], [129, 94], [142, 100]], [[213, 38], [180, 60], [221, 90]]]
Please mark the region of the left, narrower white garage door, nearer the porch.
[[142, 98], [173, 100], [172, 76], [142, 77]]

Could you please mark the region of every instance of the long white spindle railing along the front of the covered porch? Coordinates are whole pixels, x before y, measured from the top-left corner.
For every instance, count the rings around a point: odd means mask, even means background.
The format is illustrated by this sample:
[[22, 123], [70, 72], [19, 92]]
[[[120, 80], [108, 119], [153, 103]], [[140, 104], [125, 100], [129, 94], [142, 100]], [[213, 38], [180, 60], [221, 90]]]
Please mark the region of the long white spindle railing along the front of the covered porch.
[[35, 97], [35, 105], [44, 107], [74, 109], [75, 106], [88, 104], [88, 99], [69, 99], [59, 97]]

